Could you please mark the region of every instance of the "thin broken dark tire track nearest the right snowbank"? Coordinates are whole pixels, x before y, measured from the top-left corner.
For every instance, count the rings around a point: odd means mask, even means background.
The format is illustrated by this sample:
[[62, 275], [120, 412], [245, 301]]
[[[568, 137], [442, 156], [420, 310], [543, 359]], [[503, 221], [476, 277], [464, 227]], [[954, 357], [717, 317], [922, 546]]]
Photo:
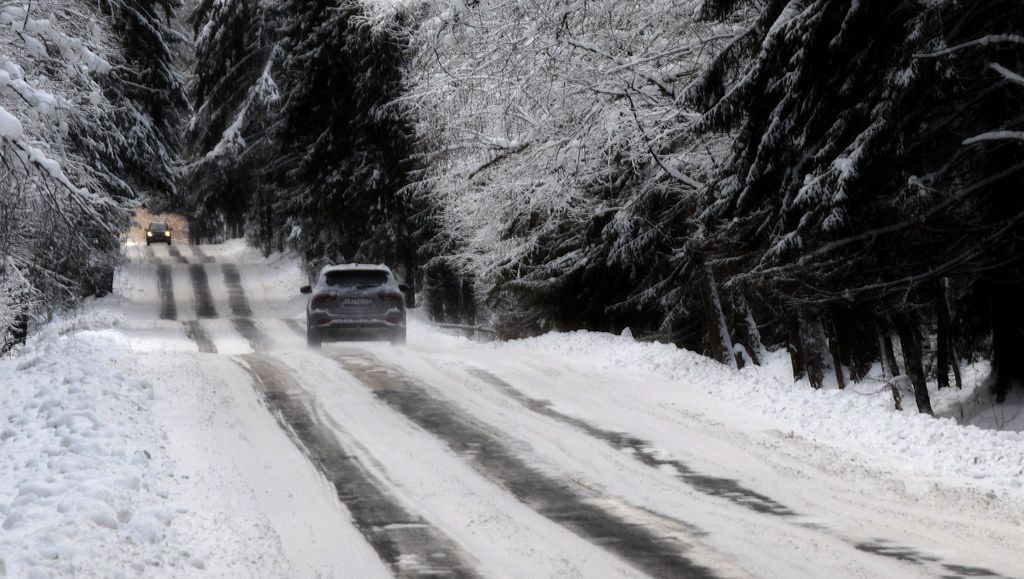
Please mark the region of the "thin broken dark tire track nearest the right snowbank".
[[505, 380], [499, 378], [498, 376], [487, 372], [486, 370], [480, 368], [471, 368], [469, 373], [477, 378], [483, 380], [484, 382], [496, 386], [504, 395], [515, 400], [527, 409], [537, 412], [538, 414], [543, 414], [549, 418], [553, 418], [564, 424], [574, 426], [587, 435], [594, 437], [595, 439], [601, 440], [608, 445], [610, 445], [615, 450], [626, 450], [631, 451], [631, 455], [643, 462], [648, 466], [654, 468], [665, 468], [672, 467], [676, 471], [676, 477], [690, 485], [694, 489], [720, 498], [724, 498], [731, 502], [734, 502], [740, 506], [745, 506], [746, 508], [753, 509], [757, 512], [764, 512], [769, 514], [777, 514], [779, 516], [795, 516], [797, 513], [791, 510], [784, 504], [763, 495], [757, 491], [753, 491], [740, 485], [737, 481], [732, 479], [722, 479], [719, 477], [710, 477], [707, 474], [699, 474], [690, 468], [685, 462], [681, 460], [666, 458], [662, 453], [655, 451], [651, 444], [638, 439], [636, 437], [631, 437], [624, 432], [616, 432], [614, 430], [606, 430], [586, 420], [569, 416], [558, 412], [552, 408], [551, 403], [546, 400], [537, 400], [527, 397], [526, 395], [519, 391], [515, 386], [506, 382]]

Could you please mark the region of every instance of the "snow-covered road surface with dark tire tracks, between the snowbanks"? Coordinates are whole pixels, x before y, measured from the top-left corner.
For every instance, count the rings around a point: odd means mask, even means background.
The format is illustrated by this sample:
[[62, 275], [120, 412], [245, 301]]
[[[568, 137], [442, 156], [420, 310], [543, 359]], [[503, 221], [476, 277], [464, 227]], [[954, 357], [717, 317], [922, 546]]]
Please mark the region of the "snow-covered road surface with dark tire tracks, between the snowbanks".
[[[411, 328], [305, 347], [297, 267], [130, 248], [172, 526], [214, 576], [1024, 576], [1020, 512], [630, 371]], [[168, 570], [165, 569], [165, 572]]]

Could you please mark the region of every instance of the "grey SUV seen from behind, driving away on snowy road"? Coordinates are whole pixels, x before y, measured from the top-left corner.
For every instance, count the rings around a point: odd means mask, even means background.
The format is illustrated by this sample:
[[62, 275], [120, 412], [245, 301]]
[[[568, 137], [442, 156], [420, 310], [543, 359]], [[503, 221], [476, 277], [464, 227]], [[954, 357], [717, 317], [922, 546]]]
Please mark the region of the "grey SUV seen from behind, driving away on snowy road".
[[387, 265], [324, 267], [316, 284], [300, 290], [306, 304], [306, 343], [390, 340], [406, 343], [406, 292]]

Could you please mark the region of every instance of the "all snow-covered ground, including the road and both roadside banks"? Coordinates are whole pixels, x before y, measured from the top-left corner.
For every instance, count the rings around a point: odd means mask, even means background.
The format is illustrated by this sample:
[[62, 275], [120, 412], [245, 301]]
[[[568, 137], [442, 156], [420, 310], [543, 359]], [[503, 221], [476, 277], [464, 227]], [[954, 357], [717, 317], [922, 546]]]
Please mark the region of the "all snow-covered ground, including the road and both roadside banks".
[[0, 362], [0, 575], [1024, 575], [982, 370], [936, 407], [988, 427], [607, 334], [315, 351], [294, 258], [198, 249]]

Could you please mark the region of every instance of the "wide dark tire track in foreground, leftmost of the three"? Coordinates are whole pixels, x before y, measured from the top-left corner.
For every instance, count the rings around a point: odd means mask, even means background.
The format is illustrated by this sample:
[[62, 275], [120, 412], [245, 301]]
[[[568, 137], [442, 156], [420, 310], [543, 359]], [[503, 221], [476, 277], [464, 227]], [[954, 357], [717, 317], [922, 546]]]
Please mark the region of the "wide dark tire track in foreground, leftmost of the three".
[[397, 577], [477, 577], [458, 544], [406, 508], [342, 447], [285, 369], [261, 356], [242, 359], [278, 422], [334, 486], [356, 528]]

